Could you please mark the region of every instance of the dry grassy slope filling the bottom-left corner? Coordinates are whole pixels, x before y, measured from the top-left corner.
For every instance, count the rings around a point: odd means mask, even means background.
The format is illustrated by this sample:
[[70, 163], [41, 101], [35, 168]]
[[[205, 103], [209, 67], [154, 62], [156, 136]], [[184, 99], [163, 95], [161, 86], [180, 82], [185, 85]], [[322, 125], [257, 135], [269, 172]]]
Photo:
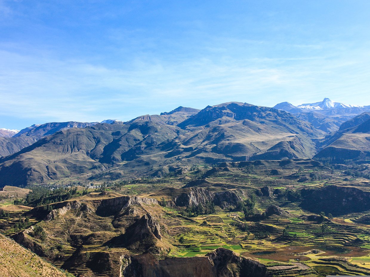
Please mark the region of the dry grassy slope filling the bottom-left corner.
[[72, 277], [0, 234], [0, 276]]

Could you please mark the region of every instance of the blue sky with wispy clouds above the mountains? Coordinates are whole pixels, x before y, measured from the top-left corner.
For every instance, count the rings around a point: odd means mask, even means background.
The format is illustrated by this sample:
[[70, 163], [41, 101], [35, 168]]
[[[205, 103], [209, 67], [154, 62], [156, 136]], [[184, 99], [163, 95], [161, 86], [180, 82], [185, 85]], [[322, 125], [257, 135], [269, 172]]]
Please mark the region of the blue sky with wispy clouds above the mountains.
[[370, 105], [370, 1], [0, 0], [0, 127]]

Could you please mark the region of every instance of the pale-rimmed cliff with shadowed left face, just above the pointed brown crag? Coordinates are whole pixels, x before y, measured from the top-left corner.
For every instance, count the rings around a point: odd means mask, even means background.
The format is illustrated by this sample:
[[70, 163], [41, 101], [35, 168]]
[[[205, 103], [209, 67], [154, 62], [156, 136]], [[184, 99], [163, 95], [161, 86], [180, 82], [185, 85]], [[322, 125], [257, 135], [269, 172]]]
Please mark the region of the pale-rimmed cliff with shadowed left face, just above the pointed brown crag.
[[121, 196], [109, 199], [103, 199], [97, 208], [97, 215], [112, 216], [119, 215], [132, 205], [158, 205], [158, 201], [153, 198], [137, 196]]

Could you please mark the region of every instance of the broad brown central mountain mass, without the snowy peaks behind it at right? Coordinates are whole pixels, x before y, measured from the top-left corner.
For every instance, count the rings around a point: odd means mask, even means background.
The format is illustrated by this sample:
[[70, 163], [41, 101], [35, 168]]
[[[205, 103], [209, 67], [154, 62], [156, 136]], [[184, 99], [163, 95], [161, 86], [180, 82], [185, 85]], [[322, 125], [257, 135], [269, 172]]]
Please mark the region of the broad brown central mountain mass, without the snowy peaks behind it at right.
[[[3, 158], [0, 185], [23, 186], [77, 174], [141, 174], [165, 165], [310, 158], [321, 133], [290, 113], [247, 103], [198, 112], [179, 107], [129, 122], [72, 128]], [[254, 157], [254, 158], [253, 158]]]

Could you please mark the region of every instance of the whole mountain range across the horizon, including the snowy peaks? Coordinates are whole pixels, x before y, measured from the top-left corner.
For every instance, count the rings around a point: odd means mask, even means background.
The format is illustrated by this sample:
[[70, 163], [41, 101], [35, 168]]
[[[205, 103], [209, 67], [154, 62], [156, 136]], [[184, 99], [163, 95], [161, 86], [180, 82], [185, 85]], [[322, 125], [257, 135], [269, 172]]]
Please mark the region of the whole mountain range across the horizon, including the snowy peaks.
[[[162, 174], [225, 161], [369, 160], [370, 106], [322, 102], [273, 108], [229, 102], [178, 107], [128, 122], [46, 123], [0, 138], [0, 185], [97, 174]], [[113, 177], [112, 177], [113, 178]]]

